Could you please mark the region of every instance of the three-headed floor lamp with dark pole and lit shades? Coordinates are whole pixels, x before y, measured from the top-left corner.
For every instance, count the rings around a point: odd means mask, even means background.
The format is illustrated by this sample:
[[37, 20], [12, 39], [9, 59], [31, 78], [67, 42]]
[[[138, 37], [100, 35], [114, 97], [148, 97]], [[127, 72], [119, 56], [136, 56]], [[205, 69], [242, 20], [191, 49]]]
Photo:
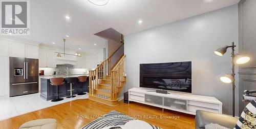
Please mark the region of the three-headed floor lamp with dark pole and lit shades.
[[214, 51], [214, 53], [218, 56], [223, 56], [228, 48], [232, 49], [231, 52], [231, 57], [232, 57], [232, 73], [231, 74], [226, 74], [225, 76], [220, 77], [220, 80], [224, 83], [232, 83], [232, 97], [233, 97], [233, 112], [232, 115], [234, 117], [234, 89], [236, 88], [236, 85], [234, 85], [234, 64], [237, 63], [238, 65], [247, 63], [250, 60], [250, 57], [248, 56], [244, 56], [244, 55], [240, 55], [240, 54], [234, 54], [234, 47], [237, 47], [234, 45], [234, 42], [232, 42], [231, 46], [225, 46], [222, 48], [217, 49], [216, 51]]

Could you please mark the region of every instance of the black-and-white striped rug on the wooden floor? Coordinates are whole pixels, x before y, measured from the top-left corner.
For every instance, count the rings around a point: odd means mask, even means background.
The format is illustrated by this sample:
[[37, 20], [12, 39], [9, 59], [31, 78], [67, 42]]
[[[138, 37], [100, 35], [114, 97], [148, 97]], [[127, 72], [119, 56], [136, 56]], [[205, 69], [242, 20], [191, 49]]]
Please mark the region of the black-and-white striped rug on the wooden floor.
[[[102, 127], [107, 126], [123, 126], [126, 122], [136, 120], [132, 117], [129, 117], [127, 115], [124, 115], [117, 111], [111, 111], [102, 117], [90, 122], [86, 126], [83, 126], [82, 129], [98, 129]], [[160, 129], [160, 127], [157, 127], [155, 125], [152, 125], [153, 129]]]

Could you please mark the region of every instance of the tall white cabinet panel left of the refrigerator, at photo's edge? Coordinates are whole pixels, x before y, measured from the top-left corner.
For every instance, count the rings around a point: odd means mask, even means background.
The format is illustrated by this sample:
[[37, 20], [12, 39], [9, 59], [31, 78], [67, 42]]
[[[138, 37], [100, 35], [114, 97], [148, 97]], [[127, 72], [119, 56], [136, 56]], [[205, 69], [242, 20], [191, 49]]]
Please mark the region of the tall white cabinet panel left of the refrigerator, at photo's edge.
[[9, 95], [9, 57], [0, 56], [0, 97]]

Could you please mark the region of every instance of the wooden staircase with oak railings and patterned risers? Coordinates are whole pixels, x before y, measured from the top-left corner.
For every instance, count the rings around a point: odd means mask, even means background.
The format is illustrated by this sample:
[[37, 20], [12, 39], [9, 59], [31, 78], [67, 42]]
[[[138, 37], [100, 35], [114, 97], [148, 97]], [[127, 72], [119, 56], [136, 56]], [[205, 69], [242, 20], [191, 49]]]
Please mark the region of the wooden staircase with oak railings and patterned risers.
[[[122, 45], [123, 43], [120, 46]], [[89, 99], [111, 106], [118, 105], [119, 95], [126, 82], [125, 55], [122, 54], [111, 69], [110, 59], [113, 54], [101, 62], [95, 70], [89, 71]]]

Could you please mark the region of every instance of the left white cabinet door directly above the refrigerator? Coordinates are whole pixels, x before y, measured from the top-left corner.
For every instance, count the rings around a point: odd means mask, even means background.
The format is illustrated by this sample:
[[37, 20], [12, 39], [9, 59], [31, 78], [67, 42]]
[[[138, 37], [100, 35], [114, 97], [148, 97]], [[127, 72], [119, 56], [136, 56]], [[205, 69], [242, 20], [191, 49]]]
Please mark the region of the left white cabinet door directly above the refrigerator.
[[25, 57], [25, 44], [10, 41], [10, 56]]

